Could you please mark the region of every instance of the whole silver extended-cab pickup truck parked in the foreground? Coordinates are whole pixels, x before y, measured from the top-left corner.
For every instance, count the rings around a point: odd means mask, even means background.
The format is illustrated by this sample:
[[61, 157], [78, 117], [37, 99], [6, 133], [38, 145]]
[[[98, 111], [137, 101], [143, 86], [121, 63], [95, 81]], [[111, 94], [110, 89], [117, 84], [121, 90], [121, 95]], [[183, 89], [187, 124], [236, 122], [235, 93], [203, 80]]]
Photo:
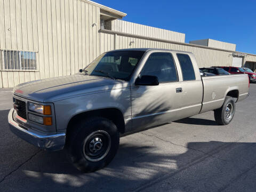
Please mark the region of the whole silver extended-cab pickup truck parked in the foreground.
[[201, 76], [193, 53], [115, 50], [76, 75], [16, 86], [8, 121], [18, 137], [65, 148], [78, 170], [91, 172], [114, 158], [119, 133], [210, 110], [219, 125], [229, 124], [249, 85], [246, 74]]

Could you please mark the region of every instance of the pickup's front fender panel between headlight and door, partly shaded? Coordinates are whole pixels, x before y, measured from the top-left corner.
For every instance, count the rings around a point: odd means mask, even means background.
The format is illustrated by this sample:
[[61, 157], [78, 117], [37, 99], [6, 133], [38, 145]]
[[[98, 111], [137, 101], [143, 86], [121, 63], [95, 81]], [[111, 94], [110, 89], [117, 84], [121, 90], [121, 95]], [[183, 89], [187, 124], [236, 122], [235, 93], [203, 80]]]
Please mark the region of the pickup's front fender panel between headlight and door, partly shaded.
[[116, 108], [124, 118], [131, 117], [131, 96], [129, 87], [108, 90], [89, 95], [54, 102], [57, 130], [66, 130], [74, 116], [86, 111]]

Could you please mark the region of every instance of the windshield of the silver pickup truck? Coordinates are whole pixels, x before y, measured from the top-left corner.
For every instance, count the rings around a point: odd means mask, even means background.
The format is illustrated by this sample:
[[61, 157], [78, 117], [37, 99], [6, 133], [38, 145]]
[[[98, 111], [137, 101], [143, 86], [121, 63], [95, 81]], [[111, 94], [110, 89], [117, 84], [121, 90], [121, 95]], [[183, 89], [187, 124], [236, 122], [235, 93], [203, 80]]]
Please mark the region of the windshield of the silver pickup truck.
[[129, 80], [144, 51], [112, 51], [101, 54], [84, 68], [85, 75]]

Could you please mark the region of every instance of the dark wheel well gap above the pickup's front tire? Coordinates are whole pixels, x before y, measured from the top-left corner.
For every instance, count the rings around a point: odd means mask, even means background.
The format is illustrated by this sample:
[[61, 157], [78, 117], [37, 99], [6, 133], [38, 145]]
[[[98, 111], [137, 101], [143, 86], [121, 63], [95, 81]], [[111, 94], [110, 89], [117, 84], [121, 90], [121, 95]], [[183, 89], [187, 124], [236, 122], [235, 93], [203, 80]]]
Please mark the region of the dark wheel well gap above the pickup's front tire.
[[69, 127], [71, 127], [70, 125], [72, 125], [79, 119], [81, 118], [85, 119], [92, 116], [100, 116], [100, 117], [108, 118], [117, 126], [119, 133], [125, 132], [124, 116], [122, 112], [116, 108], [98, 109], [98, 110], [86, 111], [86, 112], [77, 114], [70, 119], [67, 127], [67, 132], [69, 131]]

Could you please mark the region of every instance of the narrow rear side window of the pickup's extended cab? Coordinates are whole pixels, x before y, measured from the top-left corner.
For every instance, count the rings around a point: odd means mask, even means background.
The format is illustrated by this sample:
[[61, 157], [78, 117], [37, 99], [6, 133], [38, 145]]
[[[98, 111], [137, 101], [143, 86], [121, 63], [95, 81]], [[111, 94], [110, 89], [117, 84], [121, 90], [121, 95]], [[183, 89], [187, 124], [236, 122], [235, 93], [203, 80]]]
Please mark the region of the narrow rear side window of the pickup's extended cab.
[[177, 53], [178, 60], [182, 71], [183, 81], [196, 80], [193, 63], [188, 54]]

